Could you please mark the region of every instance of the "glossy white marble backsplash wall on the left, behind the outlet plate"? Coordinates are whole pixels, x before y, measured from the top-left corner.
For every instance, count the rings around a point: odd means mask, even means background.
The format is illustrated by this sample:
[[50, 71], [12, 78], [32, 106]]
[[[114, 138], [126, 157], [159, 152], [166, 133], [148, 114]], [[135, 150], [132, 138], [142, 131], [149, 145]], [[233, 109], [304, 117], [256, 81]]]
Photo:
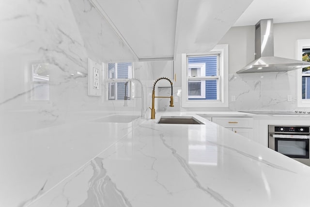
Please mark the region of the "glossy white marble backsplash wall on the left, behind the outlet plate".
[[[90, 1], [0, 0], [0, 28], [0, 206], [20, 207], [132, 128], [93, 120], [140, 116], [142, 101], [87, 96], [87, 58], [133, 57]], [[46, 100], [33, 98], [33, 63], [47, 63]]]

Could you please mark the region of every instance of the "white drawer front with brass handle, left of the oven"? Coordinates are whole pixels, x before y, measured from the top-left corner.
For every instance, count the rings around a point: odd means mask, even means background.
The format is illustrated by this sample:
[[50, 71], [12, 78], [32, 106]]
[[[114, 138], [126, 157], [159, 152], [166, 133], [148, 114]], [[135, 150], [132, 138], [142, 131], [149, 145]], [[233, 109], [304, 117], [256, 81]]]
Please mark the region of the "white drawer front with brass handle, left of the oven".
[[212, 117], [212, 122], [222, 127], [253, 128], [253, 118], [243, 117]]

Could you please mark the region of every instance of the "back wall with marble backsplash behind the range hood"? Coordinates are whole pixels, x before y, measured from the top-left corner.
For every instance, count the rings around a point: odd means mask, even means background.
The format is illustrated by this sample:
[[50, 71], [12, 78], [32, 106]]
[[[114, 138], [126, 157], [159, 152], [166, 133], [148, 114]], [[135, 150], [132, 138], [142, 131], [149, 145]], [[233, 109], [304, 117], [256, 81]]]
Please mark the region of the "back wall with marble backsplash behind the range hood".
[[[180, 103], [175, 103], [175, 106], [187, 111], [294, 111], [297, 108], [297, 71], [236, 74], [238, 70], [254, 60], [254, 32], [254, 26], [233, 27], [218, 43], [229, 45], [229, 109], [184, 109], [181, 108]], [[310, 39], [310, 21], [274, 24], [274, 55], [295, 59], [298, 39]], [[180, 55], [178, 55], [175, 62], [177, 77], [181, 77], [180, 63]], [[175, 82], [174, 90], [181, 89], [180, 80], [179, 78]], [[291, 95], [293, 101], [287, 101], [287, 95]], [[236, 96], [235, 102], [231, 102], [232, 96]], [[171, 110], [166, 104], [161, 105], [160, 109]]]

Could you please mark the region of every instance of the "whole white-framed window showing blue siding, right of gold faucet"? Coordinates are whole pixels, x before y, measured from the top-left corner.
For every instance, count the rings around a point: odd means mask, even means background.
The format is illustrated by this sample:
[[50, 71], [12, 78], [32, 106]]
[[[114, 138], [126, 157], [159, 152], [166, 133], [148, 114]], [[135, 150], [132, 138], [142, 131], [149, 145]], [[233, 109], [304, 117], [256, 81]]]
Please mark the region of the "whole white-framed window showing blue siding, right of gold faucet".
[[228, 107], [228, 45], [182, 54], [182, 107]]

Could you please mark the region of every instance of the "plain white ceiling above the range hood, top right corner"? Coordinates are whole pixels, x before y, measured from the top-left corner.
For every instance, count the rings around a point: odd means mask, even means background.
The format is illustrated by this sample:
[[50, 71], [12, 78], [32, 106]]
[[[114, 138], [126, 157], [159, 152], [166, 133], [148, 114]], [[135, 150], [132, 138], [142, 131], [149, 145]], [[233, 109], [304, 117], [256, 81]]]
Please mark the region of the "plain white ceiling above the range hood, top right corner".
[[255, 25], [260, 19], [273, 23], [310, 20], [310, 0], [253, 0], [233, 26]]

